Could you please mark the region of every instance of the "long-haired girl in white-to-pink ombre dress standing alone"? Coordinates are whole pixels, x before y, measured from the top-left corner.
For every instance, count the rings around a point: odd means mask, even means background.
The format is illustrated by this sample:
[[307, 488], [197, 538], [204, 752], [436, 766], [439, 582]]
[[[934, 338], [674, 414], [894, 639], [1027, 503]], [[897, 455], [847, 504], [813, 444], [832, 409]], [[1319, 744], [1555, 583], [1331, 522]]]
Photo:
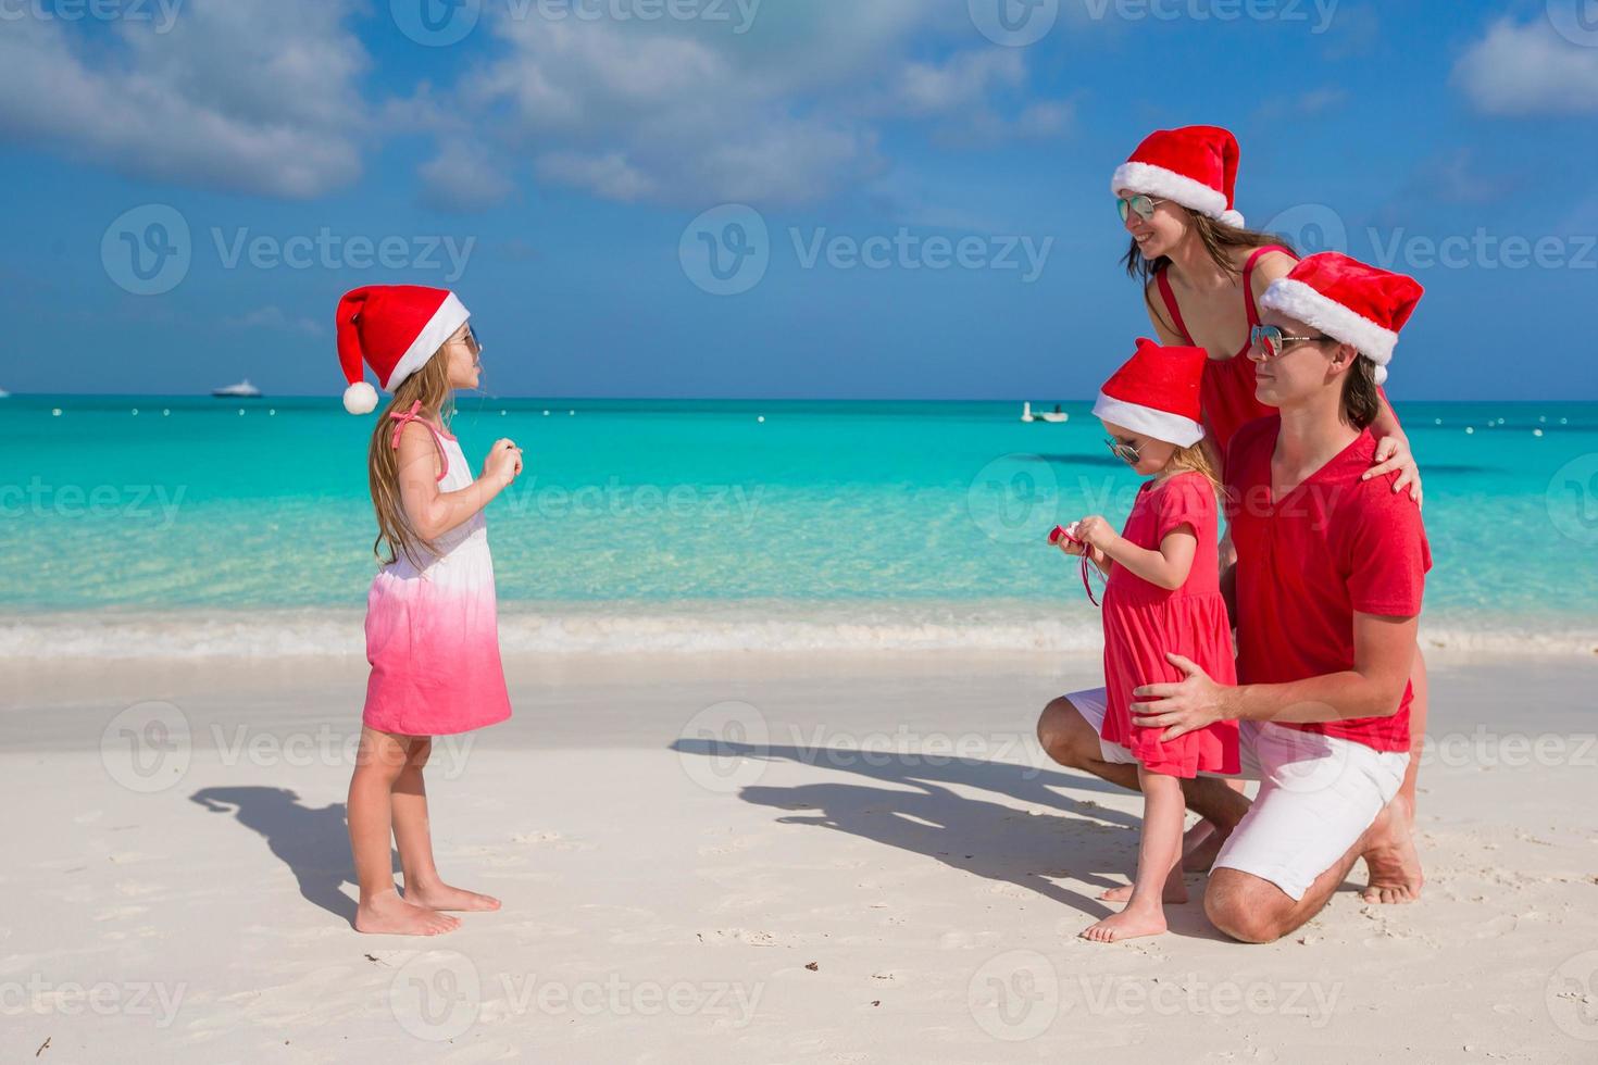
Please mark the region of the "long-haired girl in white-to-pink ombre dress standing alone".
[[460, 924], [441, 910], [500, 905], [439, 878], [422, 781], [433, 736], [510, 717], [483, 508], [521, 473], [521, 449], [495, 441], [483, 476], [473, 477], [446, 428], [454, 390], [476, 388], [481, 372], [483, 348], [467, 316], [444, 289], [369, 286], [339, 300], [345, 409], [369, 414], [377, 406], [363, 364], [393, 393], [368, 457], [374, 551], [385, 552], [366, 597], [372, 672], [348, 803], [361, 932], [436, 936]]

